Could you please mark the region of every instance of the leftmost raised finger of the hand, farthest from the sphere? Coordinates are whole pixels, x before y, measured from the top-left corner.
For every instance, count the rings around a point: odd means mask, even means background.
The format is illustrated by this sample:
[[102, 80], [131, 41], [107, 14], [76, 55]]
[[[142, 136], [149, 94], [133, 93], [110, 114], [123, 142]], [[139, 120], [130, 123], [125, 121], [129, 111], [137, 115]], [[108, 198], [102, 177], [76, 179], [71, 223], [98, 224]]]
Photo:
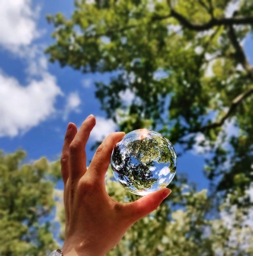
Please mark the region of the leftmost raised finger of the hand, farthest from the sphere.
[[62, 148], [62, 156], [60, 157], [60, 165], [62, 171], [62, 179], [64, 184], [66, 184], [70, 167], [69, 167], [69, 146], [72, 140], [74, 139], [77, 133], [77, 128], [74, 123], [69, 123], [67, 127], [67, 131], [64, 138], [63, 148]]

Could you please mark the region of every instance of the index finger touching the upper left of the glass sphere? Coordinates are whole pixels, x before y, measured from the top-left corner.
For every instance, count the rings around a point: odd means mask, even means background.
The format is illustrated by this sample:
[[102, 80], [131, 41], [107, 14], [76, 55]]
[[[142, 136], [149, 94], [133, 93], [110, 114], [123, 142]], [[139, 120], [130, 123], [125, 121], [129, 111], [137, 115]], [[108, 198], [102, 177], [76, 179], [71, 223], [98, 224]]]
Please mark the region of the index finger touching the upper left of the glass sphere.
[[101, 184], [104, 184], [104, 177], [111, 160], [111, 152], [124, 135], [124, 132], [115, 132], [108, 135], [97, 148], [91, 160], [88, 173], [91, 177], [102, 182]]

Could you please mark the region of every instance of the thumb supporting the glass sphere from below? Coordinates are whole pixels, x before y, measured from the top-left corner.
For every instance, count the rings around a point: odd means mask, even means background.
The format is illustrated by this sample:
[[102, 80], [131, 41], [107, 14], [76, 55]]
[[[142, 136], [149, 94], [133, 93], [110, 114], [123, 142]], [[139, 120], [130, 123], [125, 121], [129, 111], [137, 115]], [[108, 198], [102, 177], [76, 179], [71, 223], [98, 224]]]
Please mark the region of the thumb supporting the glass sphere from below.
[[144, 197], [132, 202], [126, 203], [128, 215], [133, 222], [146, 216], [159, 207], [160, 203], [171, 193], [168, 188], [162, 188], [156, 192], [145, 195]]

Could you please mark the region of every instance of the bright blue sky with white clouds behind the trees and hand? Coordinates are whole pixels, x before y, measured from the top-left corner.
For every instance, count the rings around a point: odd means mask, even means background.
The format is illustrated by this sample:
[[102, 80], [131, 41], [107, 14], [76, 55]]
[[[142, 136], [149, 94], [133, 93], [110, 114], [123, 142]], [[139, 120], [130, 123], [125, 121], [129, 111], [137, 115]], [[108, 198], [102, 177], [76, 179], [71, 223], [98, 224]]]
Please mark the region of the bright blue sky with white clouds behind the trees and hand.
[[[231, 9], [236, 6], [231, 6]], [[89, 142], [87, 159], [96, 140], [117, 131], [106, 119], [95, 98], [94, 82], [109, 81], [110, 74], [82, 74], [70, 67], [49, 63], [43, 51], [54, 41], [53, 25], [45, 16], [62, 12], [70, 17], [74, 0], [32, 1], [0, 0], [0, 148], [5, 153], [25, 150], [25, 162], [46, 156], [59, 159], [64, 134], [69, 122], [79, 127], [89, 115], [96, 117]], [[251, 36], [244, 42], [245, 52], [253, 63]], [[125, 95], [131, 97], [131, 95]], [[200, 135], [201, 137], [201, 135]], [[176, 152], [180, 147], [176, 145]], [[203, 175], [204, 157], [195, 146], [177, 159], [177, 173], [187, 173], [197, 188], [208, 187]]]

